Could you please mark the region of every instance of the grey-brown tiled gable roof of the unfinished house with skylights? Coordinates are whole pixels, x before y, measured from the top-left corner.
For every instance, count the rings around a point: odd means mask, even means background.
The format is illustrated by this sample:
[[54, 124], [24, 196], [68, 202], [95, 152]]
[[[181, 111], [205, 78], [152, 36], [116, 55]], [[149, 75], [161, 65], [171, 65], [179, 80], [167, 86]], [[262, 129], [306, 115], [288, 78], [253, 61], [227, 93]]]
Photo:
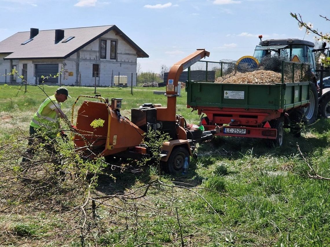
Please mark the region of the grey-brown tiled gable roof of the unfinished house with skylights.
[[[39, 30], [38, 35], [24, 45], [21, 43], [30, 39], [30, 31], [18, 32], [0, 42], [0, 53], [11, 53], [5, 59], [67, 58], [110, 30], [114, 30], [137, 51], [138, 57], [149, 57], [116, 25], [66, 28], [62, 30], [64, 30], [64, 38], [56, 44], [54, 29]], [[75, 38], [62, 43], [69, 37]]]

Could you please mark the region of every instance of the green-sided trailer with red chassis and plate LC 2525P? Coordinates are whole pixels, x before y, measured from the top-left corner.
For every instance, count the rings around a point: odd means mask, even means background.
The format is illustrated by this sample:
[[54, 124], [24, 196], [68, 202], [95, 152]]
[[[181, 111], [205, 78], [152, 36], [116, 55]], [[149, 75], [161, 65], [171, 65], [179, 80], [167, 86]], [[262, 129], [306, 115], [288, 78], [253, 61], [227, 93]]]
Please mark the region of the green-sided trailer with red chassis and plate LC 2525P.
[[218, 135], [270, 139], [281, 146], [283, 128], [300, 136], [311, 88], [310, 81], [295, 82], [294, 66], [302, 68], [303, 64], [285, 63], [292, 65], [292, 78], [286, 82], [284, 69], [281, 82], [272, 84], [187, 81], [187, 107], [206, 115], [201, 119], [206, 130], [222, 126]]

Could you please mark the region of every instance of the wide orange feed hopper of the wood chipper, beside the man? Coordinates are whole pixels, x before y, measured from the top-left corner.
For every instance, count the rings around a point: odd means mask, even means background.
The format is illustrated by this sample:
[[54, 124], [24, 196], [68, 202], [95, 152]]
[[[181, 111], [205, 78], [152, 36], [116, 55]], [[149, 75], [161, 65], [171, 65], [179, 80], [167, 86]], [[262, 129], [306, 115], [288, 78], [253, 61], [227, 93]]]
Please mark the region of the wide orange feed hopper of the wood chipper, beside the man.
[[[77, 113], [77, 133], [74, 143], [84, 156], [88, 158], [94, 158], [99, 154], [107, 156], [141, 144], [144, 131], [120, 115], [121, 99], [114, 98], [110, 103], [108, 99], [100, 96], [80, 95], [75, 104], [80, 97], [101, 101], [85, 100]], [[103, 125], [95, 127], [92, 122], [95, 123], [97, 120], [104, 121]]]

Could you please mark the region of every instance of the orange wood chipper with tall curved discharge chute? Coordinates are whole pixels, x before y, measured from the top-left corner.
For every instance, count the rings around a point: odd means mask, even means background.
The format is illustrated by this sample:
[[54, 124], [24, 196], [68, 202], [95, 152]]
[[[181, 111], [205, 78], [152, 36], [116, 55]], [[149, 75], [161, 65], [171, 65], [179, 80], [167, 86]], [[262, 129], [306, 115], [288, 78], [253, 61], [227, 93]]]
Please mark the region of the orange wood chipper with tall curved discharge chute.
[[[188, 130], [184, 118], [176, 114], [180, 74], [209, 55], [210, 52], [205, 49], [197, 49], [174, 64], [166, 84], [167, 107], [143, 104], [140, 108], [131, 109], [131, 120], [120, 114], [121, 98], [109, 100], [101, 96], [80, 95], [72, 107], [72, 124], [74, 107], [80, 97], [99, 101], [85, 100], [78, 110], [77, 133], [74, 138], [77, 150], [80, 150], [84, 157], [94, 158], [100, 155], [106, 160], [114, 156], [133, 159], [151, 157], [149, 147], [143, 144], [144, 134], [157, 130], [170, 136], [170, 140], [163, 144], [161, 163], [169, 173], [181, 173], [185, 160], [189, 163], [190, 156], [193, 155], [195, 144], [212, 139], [217, 131]], [[98, 119], [104, 121], [103, 126], [92, 127], [91, 122]]]

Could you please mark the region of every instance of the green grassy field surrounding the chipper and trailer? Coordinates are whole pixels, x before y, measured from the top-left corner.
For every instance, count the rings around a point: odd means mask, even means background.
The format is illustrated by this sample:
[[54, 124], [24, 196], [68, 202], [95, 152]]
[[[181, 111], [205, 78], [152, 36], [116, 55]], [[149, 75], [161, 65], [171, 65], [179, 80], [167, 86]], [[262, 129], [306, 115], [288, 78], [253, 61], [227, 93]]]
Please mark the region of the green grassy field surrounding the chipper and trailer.
[[[44, 90], [52, 95], [56, 88]], [[37, 87], [24, 89], [0, 87], [0, 246], [330, 246], [330, 120], [306, 126], [300, 138], [286, 130], [278, 148], [260, 139], [215, 137], [198, 146], [186, 176], [160, 176], [154, 166], [129, 161], [104, 168], [95, 188], [55, 193], [15, 177], [16, 152], [45, 99]], [[68, 90], [68, 116], [78, 95], [94, 95], [94, 88]], [[154, 90], [165, 88], [96, 93], [123, 98], [121, 113], [130, 118], [130, 109], [143, 103], [166, 105]], [[199, 123], [185, 92], [177, 114]]]

